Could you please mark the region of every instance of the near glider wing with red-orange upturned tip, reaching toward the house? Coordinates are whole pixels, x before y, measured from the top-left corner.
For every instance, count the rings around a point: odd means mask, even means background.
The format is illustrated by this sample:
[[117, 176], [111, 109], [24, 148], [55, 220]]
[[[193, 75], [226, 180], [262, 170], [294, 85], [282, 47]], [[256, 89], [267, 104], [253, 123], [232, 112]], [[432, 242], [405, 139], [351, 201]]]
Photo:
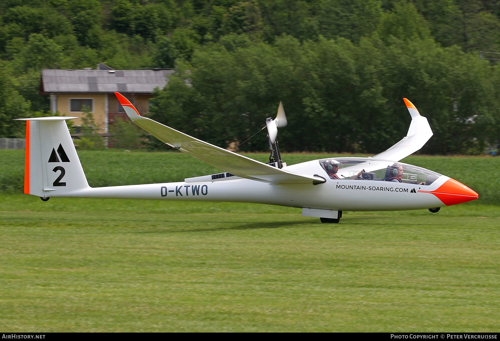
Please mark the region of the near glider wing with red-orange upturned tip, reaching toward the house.
[[183, 132], [141, 116], [135, 107], [120, 93], [114, 93], [128, 117], [160, 141], [180, 149], [214, 167], [234, 175], [267, 183], [319, 183], [323, 178], [297, 174], [276, 168], [249, 157], [207, 143]]

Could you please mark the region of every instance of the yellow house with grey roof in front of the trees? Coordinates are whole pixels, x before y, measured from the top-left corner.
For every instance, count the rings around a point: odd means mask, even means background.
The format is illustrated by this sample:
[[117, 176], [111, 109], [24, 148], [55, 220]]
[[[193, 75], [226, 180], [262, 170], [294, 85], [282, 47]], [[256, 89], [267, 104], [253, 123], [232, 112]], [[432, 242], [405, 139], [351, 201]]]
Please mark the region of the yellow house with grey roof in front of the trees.
[[[97, 69], [42, 69], [40, 94], [50, 96], [50, 110], [63, 116], [82, 116], [88, 107], [95, 128], [108, 132], [109, 125], [118, 117], [128, 119], [114, 95], [126, 96], [139, 112], [148, 112], [149, 99], [154, 88], [165, 86], [173, 70], [141, 69], [114, 70], [99, 63]], [[73, 119], [82, 125], [81, 119]]]

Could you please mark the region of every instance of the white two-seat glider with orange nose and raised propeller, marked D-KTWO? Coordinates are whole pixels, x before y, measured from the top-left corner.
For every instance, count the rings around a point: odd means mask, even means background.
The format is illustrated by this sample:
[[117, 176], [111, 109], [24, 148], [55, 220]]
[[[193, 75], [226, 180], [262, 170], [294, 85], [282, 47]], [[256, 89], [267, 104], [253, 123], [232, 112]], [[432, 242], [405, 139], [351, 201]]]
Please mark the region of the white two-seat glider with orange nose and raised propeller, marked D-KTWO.
[[406, 98], [411, 115], [406, 136], [373, 157], [329, 157], [286, 165], [281, 161], [277, 128], [287, 124], [279, 103], [267, 118], [271, 155], [259, 162], [207, 143], [139, 114], [115, 92], [128, 117], [175, 149], [189, 153], [221, 173], [185, 178], [182, 182], [90, 187], [64, 122], [76, 117], [20, 118], [26, 121], [24, 192], [50, 197], [133, 198], [254, 202], [302, 208], [302, 215], [336, 223], [342, 211], [429, 209], [478, 197], [464, 184], [429, 169], [399, 162], [432, 136], [427, 119]]

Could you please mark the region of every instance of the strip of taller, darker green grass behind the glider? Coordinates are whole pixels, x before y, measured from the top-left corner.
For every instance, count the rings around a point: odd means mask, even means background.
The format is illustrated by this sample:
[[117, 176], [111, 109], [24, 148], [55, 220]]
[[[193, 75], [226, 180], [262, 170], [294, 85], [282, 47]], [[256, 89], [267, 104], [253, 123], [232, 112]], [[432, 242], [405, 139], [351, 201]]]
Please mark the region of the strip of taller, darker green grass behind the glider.
[[[154, 182], [183, 181], [186, 177], [217, 172], [187, 154], [171, 152], [143, 152], [122, 150], [78, 151], [85, 175], [91, 186], [112, 186]], [[265, 162], [266, 153], [246, 153], [248, 157]], [[283, 161], [294, 164], [330, 157], [331, 154], [283, 154]], [[350, 155], [349, 155], [350, 156]], [[366, 156], [366, 155], [364, 155]], [[409, 156], [403, 162], [415, 164], [450, 176], [479, 194], [480, 203], [500, 202], [498, 169], [500, 157], [492, 156]], [[22, 193], [24, 181], [24, 151], [0, 150], [0, 192]]]

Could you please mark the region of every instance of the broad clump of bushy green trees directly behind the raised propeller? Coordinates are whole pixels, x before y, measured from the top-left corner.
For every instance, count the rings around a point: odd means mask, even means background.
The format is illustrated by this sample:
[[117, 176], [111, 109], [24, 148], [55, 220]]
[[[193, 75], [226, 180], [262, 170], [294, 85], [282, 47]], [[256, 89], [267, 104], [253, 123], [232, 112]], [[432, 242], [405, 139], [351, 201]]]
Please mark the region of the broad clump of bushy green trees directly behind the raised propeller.
[[[283, 150], [376, 153], [406, 134], [407, 97], [436, 135], [423, 152], [480, 152], [498, 130], [491, 67], [431, 38], [403, 38], [386, 44], [373, 35], [356, 45], [283, 36], [273, 46], [207, 46], [192, 65], [177, 64], [155, 93], [152, 118], [227, 146], [258, 131], [281, 100], [288, 117], [279, 132]], [[256, 137], [240, 149], [265, 150], [266, 140]]]

